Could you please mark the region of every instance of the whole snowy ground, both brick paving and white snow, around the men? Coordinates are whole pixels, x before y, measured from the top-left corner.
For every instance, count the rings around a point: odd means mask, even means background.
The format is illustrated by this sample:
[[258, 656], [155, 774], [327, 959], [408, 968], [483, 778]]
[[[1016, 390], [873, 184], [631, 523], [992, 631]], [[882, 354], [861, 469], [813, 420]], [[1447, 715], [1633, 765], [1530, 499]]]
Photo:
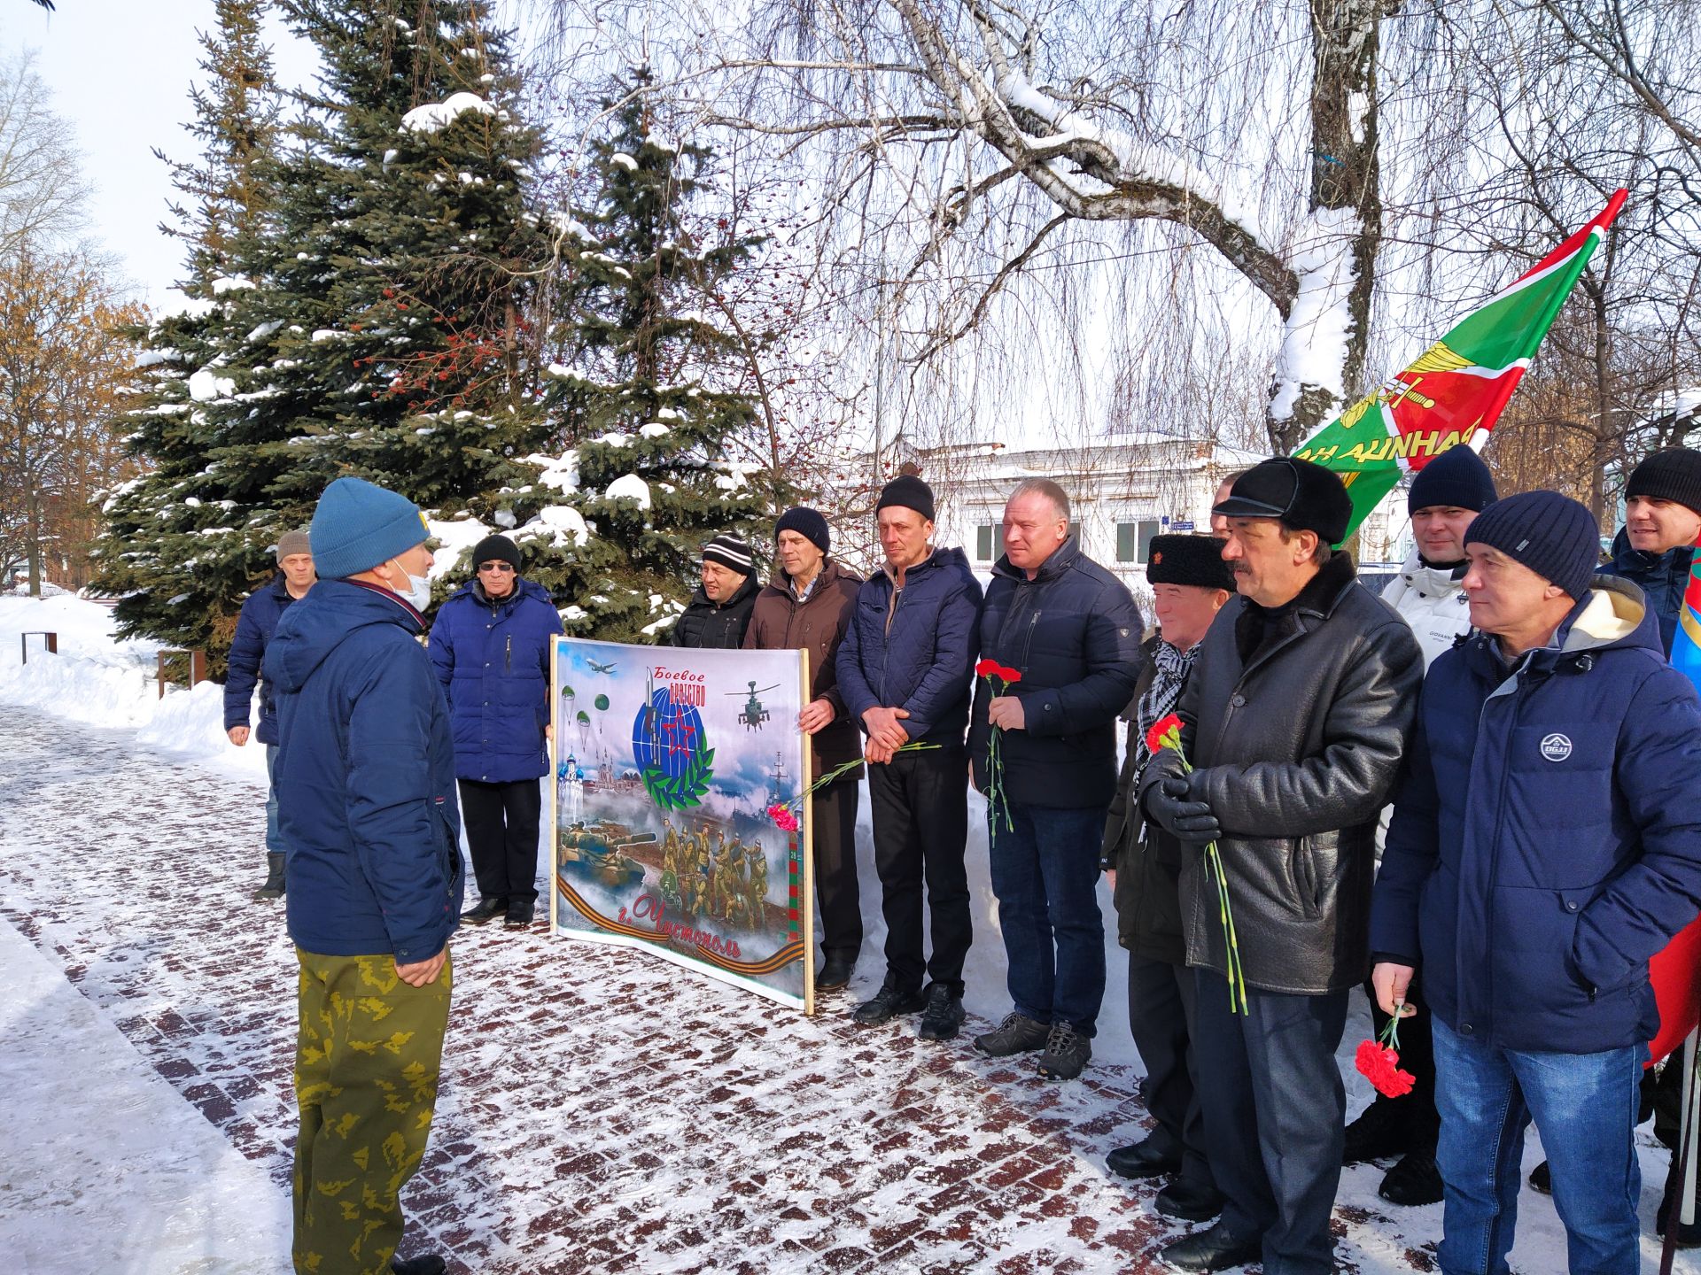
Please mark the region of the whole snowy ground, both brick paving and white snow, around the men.
[[[248, 756], [185, 760], [206, 751], [211, 688], [136, 707], [139, 660], [90, 631], [92, 666], [131, 695], [90, 699], [75, 653], [19, 666], [0, 604], [7, 1270], [284, 1272], [294, 959], [282, 908], [248, 903], [264, 777]], [[985, 1017], [942, 1046], [913, 1022], [857, 1028], [874, 950], [815, 1018], [541, 930], [463, 930], [454, 959], [403, 1253], [490, 1275], [1155, 1272], [1182, 1232], [1155, 1183], [1104, 1170], [1148, 1127], [1138, 1062], [1056, 1085], [978, 1057]], [[1364, 1027], [1361, 1008], [1344, 1059]], [[1357, 1076], [1349, 1091], [1368, 1098]], [[1652, 1219], [1665, 1153], [1641, 1132]], [[1380, 1176], [1342, 1178], [1342, 1270], [1434, 1270], [1441, 1209], [1383, 1204]], [[1652, 1270], [1652, 1234], [1645, 1255]], [[1512, 1265], [1563, 1270], [1548, 1198], [1524, 1193]], [[1701, 1275], [1692, 1255], [1679, 1268]]]

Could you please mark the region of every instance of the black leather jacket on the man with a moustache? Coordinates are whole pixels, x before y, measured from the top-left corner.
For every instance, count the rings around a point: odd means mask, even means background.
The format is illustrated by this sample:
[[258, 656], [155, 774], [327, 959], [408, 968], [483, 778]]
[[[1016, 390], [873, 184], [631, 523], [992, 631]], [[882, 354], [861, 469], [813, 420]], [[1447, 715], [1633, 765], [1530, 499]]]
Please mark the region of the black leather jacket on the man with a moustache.
[[[1417, 714], [1424, 654], [1412, 629], [1337, 554], [1255, 643], [1257, 612], [1230, 598], [1182, 692], [1196, 792], [1223, 826], [1218, 850], [1247, 983], [1317, 996], [1364, 981], [1376, 818]], [[1182, 770], [1165, 750], [1141, 797]], [[1180, 872], [1187, 964], [1226, 971], [1216, 886], [1203, 853]]]

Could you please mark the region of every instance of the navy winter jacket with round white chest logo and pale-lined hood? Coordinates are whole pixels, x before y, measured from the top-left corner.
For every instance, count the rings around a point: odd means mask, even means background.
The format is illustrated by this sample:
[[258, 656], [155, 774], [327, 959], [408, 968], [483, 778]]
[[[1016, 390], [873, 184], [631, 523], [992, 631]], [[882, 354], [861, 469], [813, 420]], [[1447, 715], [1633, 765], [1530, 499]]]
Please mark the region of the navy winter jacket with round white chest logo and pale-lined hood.
[[1701, 910], [1701, 704], [1641, 592], [1596, 576], [1510, 673], [1493, 638], [1442, 653], [1408, 758], [1371, 949], [1488, 1046], [1652, 1040], [1648, 957]]

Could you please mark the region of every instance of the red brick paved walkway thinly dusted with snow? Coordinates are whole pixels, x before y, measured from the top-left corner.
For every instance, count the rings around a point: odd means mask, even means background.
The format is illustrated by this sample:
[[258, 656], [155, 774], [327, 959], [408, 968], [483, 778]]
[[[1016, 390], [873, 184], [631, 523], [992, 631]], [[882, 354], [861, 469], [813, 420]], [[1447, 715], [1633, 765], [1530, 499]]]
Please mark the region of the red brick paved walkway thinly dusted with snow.
[[[294, 959], [247, 901], [260, 797], [0, 712], [0, 916], [286, 1192]], [[466, 930], [454, 959], [403, 1244], [451, 1270], [1145, 1272], [1179, 1234], [1102, 1168], [1145, 1125], [1128, 1068], [1043, 1083], [541, 932]], [[1342, 1268], [1431, 1270], [1437, 1214], [1337, 1209]]]

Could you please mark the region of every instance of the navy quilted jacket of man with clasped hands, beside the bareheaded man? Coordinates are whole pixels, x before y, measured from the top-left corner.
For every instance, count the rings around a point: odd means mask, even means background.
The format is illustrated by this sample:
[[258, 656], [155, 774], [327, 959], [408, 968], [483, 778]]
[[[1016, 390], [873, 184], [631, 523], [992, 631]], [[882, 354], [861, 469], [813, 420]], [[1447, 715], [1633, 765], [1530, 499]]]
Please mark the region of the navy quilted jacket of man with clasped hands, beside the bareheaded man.
[[905, 571], [893, 605], [888, 571], [864, 580], [839, 646], [839, 694], [861, 726], [869, 709], [903, 709], [912, 740], [961, 745], [975, 654], [980, 581], [961, 549], [934, 552]]

